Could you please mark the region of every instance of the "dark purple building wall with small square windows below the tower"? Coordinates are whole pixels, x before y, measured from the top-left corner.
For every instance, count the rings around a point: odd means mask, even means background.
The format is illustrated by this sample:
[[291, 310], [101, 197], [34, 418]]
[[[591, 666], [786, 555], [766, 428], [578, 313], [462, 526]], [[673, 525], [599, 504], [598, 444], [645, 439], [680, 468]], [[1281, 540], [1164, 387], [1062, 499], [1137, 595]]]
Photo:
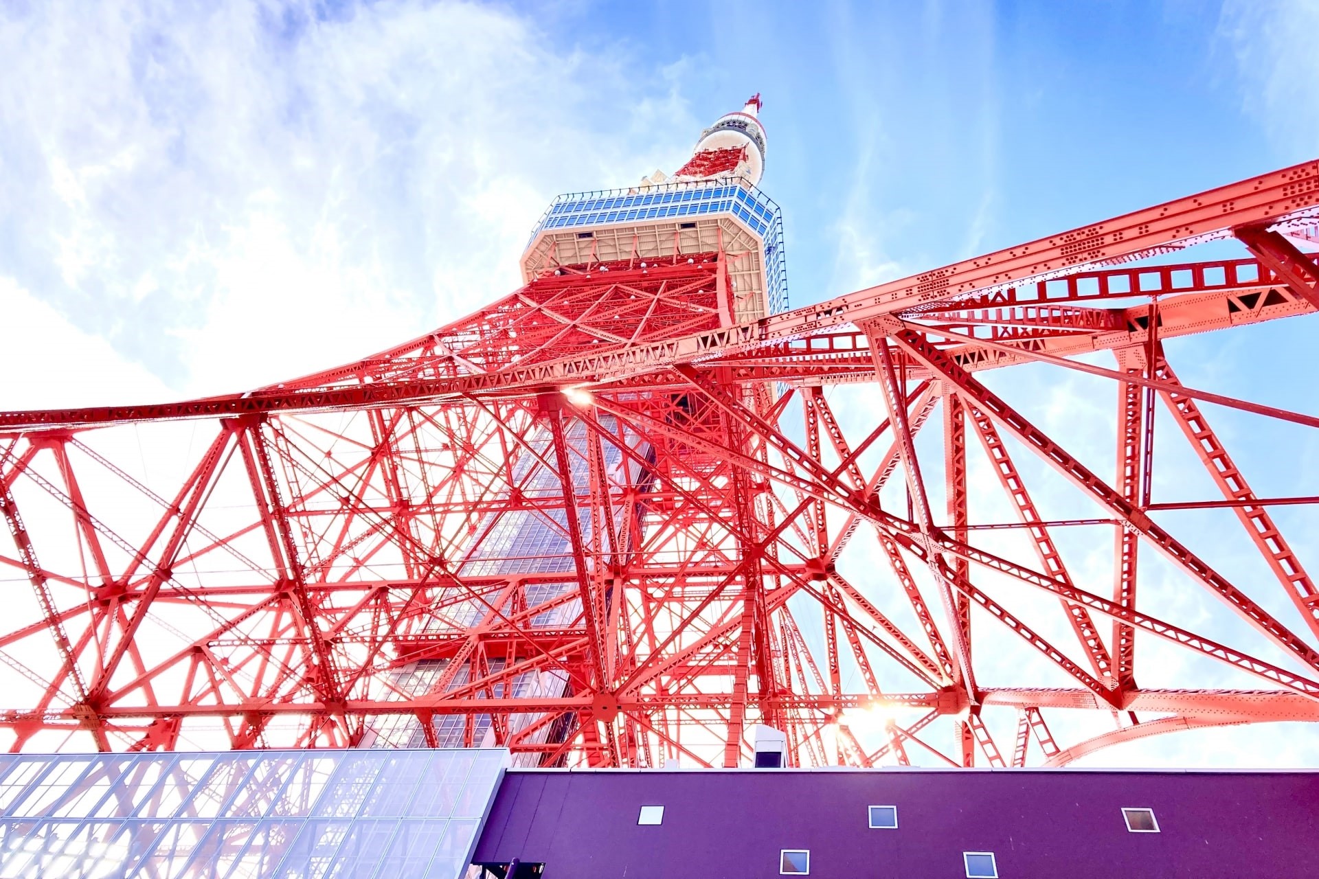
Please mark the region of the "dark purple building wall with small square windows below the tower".
[[[642, 805], [663, 824], [638, 826]], [[898, 829], [871, 830], [868, 805]], [[1129, 833], [1122, 807], [1154, 809]], [[993, 851], [1002, 879], [1319, 875], [1319, 774], [1083, 770], [509, 771], [476, 863], [543, 862], [546, 879], [810, 875], [960, 878]]]

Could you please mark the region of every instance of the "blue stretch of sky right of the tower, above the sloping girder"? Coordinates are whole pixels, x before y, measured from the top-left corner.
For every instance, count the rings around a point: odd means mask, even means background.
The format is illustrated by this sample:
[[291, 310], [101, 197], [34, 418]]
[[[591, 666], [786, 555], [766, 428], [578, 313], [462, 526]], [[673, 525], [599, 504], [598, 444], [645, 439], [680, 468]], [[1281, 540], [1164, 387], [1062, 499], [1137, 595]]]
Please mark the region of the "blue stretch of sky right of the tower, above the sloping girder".
[[1268, 66], [1286, 62], [1261, 45], [1286, 12], [563, 4], [549, 28], [666, 71], [700, 119], [729, 96], [764, 94], [773, 152], [764, 186], [786, 208], [805, 303], [877, 270], [944, 265], [1311, 158], [1314, 123], [1272, 130], [1273, 98], [1261, 88]]

